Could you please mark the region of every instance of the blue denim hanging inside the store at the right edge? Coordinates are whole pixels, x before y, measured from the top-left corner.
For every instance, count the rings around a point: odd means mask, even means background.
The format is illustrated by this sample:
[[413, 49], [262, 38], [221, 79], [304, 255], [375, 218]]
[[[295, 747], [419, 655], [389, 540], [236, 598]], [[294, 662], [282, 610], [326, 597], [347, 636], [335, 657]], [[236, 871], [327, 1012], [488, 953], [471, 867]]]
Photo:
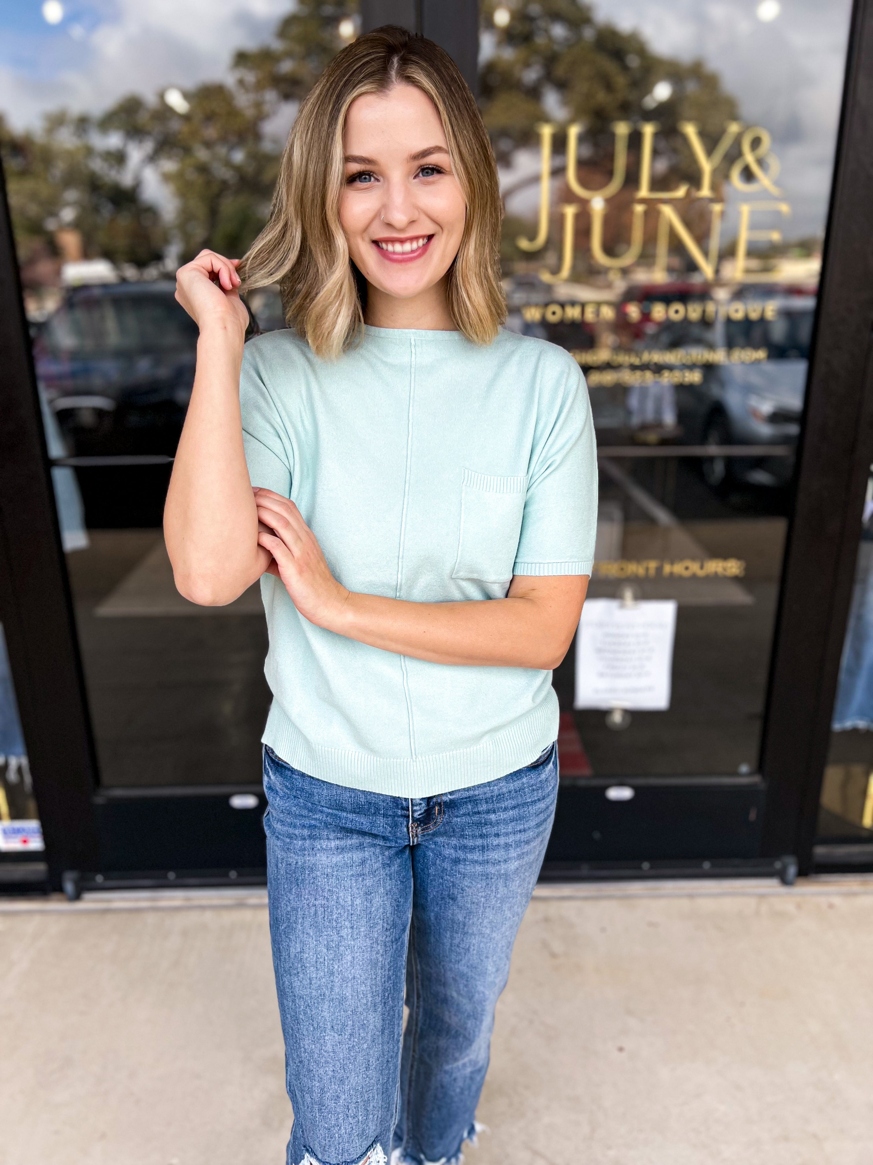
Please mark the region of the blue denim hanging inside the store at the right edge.
[[873, 536], [866, 530], [858, 549], [831, 727], [833, 732], [873, 728]]

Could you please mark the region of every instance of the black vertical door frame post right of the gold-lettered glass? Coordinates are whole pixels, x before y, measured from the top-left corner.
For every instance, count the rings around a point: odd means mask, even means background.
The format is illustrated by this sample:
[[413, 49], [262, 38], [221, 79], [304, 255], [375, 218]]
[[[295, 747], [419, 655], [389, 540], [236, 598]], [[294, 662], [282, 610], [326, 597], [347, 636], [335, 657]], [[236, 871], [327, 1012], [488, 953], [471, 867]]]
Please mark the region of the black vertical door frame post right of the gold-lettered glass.
[[873, 2], [856, 0], [783, 562], [761, 772], [762, 853], [812, 867], [873, 461]]

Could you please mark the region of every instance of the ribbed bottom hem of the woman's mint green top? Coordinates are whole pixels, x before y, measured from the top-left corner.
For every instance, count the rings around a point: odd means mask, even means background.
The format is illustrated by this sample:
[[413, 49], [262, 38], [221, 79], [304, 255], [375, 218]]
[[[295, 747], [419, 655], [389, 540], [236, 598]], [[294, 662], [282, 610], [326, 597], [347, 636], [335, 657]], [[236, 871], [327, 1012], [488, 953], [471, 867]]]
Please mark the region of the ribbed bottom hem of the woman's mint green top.
[[391, 797], [435, 797], [497, 781], [535, 761], [558, 735], [558, 697], [549, 689], [542, 704], [489, 733], [471, 748], [412, 760], [329, 748], [308, 740], [272, 701], [261, 737], [288, 764], [310, 777]]

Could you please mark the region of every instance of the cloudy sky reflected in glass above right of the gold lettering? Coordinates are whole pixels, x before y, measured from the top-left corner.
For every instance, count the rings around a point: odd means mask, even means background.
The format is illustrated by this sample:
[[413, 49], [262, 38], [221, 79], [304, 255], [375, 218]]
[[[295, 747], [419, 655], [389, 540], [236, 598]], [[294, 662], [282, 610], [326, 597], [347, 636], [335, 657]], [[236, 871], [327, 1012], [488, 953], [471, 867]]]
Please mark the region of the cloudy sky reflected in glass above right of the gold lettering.
[[793, 210], [786, 236], [816, 234], [828, 209], [851, 2], [782, 0], [766, 24], [755, 7], [757, 0], [594, 0], [602, 20], [637, 29], [655, 52], [698, 57], [719, 73], [743, 120], [773, 135], [779, 186]]

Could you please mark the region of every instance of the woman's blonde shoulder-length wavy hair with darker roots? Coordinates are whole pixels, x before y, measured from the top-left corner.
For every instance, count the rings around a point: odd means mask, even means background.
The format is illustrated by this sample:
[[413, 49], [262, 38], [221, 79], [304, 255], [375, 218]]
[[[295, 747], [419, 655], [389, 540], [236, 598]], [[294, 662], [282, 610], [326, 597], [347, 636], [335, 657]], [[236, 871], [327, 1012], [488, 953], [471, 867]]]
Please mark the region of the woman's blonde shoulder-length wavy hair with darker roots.
[[362, 334], [367, 297], [340, 225], [346, 114], [362, 93], [383, 93], [397, 84], [416, 85], [436, 107], [467, 203], [461, 245], [448, 271], [452, 319], [468, 339], [490, 344], [506, 318], [497, 165], [476, 101], [439, 45], [386, 26], [339, 52], [300, 106], [269, 221], [240, 268], [243, 290], [279, 284], [286, 323], [319, 356], [338, 356]]

